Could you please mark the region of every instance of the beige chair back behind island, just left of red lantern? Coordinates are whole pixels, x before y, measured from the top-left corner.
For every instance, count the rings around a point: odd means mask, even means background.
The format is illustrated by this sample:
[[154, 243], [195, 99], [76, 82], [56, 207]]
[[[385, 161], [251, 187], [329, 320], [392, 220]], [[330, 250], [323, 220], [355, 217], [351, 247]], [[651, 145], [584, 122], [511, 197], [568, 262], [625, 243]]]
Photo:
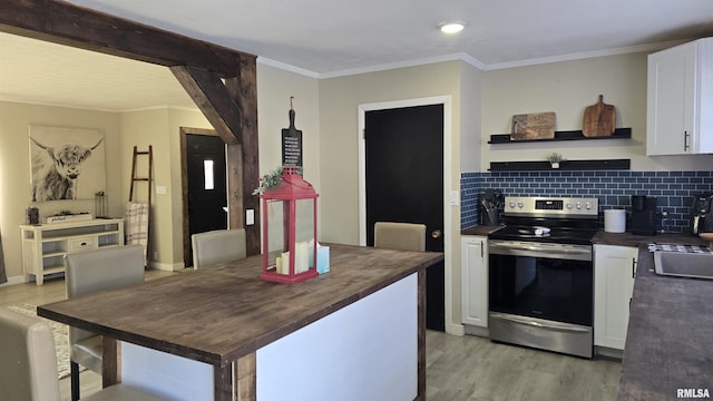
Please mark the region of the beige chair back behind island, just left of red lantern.
[[191, 236], [193, 268], [247, 256], [245, 228], [215, 229]]

